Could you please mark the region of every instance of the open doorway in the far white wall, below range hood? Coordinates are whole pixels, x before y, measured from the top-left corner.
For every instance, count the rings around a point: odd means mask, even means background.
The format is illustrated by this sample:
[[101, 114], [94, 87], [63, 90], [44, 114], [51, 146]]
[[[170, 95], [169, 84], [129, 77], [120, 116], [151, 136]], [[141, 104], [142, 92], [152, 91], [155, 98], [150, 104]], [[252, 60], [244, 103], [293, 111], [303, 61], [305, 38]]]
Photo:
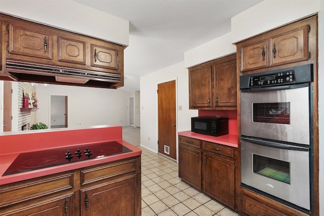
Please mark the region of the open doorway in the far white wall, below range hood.
[[51, 127], [67, 127], [67, 96], [51, 95]]

